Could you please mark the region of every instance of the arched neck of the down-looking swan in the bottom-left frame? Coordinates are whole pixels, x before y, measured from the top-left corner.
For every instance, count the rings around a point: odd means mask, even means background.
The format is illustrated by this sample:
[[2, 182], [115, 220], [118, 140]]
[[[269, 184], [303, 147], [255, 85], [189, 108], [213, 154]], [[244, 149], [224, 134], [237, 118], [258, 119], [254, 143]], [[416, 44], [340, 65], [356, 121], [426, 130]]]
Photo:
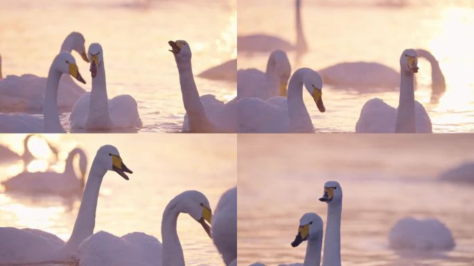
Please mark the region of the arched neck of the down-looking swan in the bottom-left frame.
[[180, 211], [171, 201], [163, 213], [161, 220], [161, 238], [163, 250], [161, 251], [161, 266], [184, 266], [184, 255], [181, 243], [177, 236], [176, 225]]

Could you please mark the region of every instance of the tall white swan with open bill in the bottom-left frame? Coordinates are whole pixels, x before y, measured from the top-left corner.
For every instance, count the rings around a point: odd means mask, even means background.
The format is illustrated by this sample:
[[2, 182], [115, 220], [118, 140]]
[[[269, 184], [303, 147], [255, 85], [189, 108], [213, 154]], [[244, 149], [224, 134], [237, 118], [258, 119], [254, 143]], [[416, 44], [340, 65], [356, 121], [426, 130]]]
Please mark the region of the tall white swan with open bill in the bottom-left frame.
[[128, 180], [132, 173], [122, 162], [119, 151], [112, 145], [98, 149], [82, 195], [78, 217], [71, 238], [64, 243], [60, 238], [37, 229], [0, 227], [0, 264], [41, 263], [74, 259], [79, 244], [94, 231], [100, 184], [109, 170]]

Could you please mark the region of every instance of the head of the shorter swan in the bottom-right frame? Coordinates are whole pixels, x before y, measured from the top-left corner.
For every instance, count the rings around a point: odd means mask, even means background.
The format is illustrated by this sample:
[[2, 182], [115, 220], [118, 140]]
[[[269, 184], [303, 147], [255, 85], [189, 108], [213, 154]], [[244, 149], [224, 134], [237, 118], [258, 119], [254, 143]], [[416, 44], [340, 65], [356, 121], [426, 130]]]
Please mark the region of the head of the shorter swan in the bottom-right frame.
[[298, 247], [301, 242], [306, 240], [322, 239], [323, 222], [316, 213], [305, 213], [299, 219], [298, 234], [291, 243], [292, 247]]

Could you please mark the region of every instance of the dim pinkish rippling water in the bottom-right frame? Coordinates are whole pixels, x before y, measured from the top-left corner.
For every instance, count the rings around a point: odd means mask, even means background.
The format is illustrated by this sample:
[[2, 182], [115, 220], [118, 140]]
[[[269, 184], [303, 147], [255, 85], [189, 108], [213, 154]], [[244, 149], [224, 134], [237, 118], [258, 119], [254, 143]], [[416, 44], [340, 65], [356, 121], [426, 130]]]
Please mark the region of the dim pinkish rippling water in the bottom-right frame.
[[[238, 264], [302, 263], [306, 245], [292, 248], [299, 218], [321, 215], [324, 182], [340, 182], [342, 265], [473, 265], [474, 185], [438, 181], [473, 161], [468, 135], [238, 136]], [[435, 217], [453, 233], [449, 252], [402, 254], [388, 233], [410, 215]]]

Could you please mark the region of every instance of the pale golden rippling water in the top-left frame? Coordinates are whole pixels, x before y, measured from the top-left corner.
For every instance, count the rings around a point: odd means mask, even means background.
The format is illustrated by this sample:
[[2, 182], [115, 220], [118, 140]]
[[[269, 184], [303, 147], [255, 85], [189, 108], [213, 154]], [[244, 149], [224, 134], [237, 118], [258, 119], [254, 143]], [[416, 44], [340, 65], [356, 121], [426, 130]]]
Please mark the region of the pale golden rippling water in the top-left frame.
[[[53, 57], [71, 31], [85, 36], [86, 48], [100, 42], [105, 53], [109, 98], [130, 94], [138, 103], [141, 132], [177, 132], [185, 114], [170, 39], [186, 39], [195, 75], [236, 57], [236, 1], [3, 0], [0, 53], [3, 76], [47, 76]], [[80, 59], [73, 53], [76, 60]], [[79, 61], [79, 60], [78, 60]], [[89, 66], [78, 62], [91, 88]], [[236, 84], [195, 78], [200, 94], [220, 100], [236, 95]], [[65, 128], [69, 113], [61, 115]]]

